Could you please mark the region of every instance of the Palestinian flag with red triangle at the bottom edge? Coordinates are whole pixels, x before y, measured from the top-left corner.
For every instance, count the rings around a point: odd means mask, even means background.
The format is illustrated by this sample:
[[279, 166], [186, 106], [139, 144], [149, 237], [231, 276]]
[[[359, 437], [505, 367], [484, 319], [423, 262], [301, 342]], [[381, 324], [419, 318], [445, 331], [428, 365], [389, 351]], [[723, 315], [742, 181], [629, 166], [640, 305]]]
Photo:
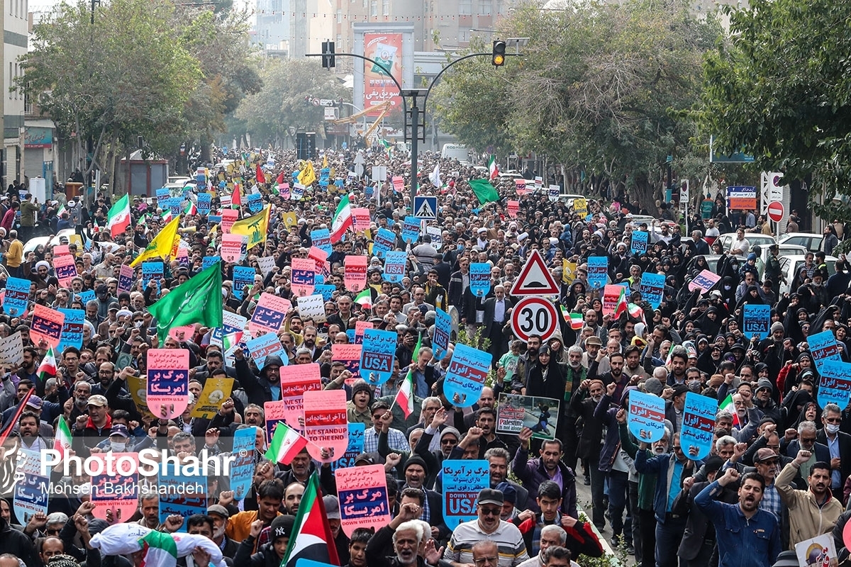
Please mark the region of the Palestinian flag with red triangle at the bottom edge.
[[[295, 516], [293, 535], [289, 537], [287, 551], [283, 554], [283, 567], [295, 567], [299, 559], [339, 565], [334, 536], [328, 525], [328, 515], [319, 489], [316, 472], [307, 479], [305, 493], [301, 496], [299, 513]], [[330, 545], [329, 545], [330, 544]]]

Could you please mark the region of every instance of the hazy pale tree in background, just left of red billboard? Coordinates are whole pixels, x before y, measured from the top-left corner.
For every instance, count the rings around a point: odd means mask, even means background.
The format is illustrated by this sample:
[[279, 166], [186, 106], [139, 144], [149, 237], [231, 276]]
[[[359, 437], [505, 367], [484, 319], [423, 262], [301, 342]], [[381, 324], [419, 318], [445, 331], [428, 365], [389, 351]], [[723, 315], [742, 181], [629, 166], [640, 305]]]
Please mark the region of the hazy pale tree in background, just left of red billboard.
[[263, 88], [239, 105], [237, 119], [244, 120], [254, 144], [275, 145], [288, 135], [288, 128], [323, 128], [322, 106], [307, 98], [346, 98], [346, 89], [323, 70], [318, 60], [267, 60], [260, 71]]

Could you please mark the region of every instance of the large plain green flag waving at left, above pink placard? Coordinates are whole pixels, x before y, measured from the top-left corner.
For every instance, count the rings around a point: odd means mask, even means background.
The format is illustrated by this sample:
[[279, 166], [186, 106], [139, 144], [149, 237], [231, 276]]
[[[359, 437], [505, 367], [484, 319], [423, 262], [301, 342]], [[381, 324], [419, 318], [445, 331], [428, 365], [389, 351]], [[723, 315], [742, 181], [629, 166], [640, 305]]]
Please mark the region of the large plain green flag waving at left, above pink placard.
[[222, 326], [221, 266], [216, 263], [194, 275], [148, 310], [157, 319], [157, 336], [162, 346], [175, 326], [201, 323]]

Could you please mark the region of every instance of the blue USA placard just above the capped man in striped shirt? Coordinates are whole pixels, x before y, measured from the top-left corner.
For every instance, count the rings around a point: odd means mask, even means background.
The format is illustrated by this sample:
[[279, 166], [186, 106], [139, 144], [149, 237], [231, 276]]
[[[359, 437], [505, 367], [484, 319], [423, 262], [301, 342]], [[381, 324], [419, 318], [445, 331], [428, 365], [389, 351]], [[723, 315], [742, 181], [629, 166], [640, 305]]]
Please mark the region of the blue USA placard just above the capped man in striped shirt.
[[440, 465], [443, 485], [443, 522], [449, 530], [477, 518], [479, 490], [490, 488], [487, 461], [446, 459]]

